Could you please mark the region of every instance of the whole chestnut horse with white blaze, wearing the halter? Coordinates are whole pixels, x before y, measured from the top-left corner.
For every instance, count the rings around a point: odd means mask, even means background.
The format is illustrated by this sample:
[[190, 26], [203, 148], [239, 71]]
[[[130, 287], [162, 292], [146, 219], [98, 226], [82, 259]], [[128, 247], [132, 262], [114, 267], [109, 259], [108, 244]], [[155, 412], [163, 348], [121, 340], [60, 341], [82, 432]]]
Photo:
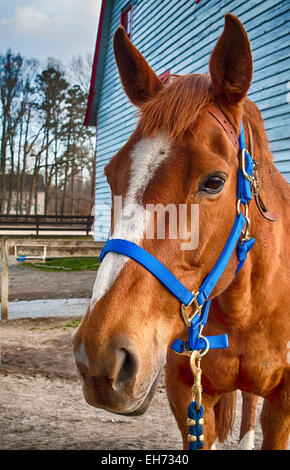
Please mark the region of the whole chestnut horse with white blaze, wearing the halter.
[[[113, 199], [112, 221], [117, 222], [112, 223], [111, 238], [141, 246], [190, 290], [212, 270], [233, 227], [239, 170], [235, 139], [244, 123], [247, 148], [258, 163], [259, 188], [276, 221], [266, 220], [269, 212], [259, 198], [250, 204], [255, 245], [237, 275], [233, 253], [211, 294], [204, 331], [226, 333], [229, 348], [210, 349], [202, 358], [204, 441], [210, 449], [217, 437], [227, 435], [235, 391], [240, 389], [264, 398], [262, 448], [286, 449], [289, 192], [274, 165], [261, 114], [246, 97], [252, 79], [247, 34], [240, 21], [227, 14], [210, 57], [209, 75], [175, 76], [167, 85], [122, 27], [115, 33], [114, 52], [124, 90], [139, 108], [139, 120], [105, 168], [112, 196], [123, 198], [119, 218]], [[213, 107], [219, 110], [218, 118], [210, 112]], [[157, 237], [156, 231], [146, 237], [148, 220], [152, 222], [149, 204], [186, 204], [188, 209], [198, 205], [198, 246], [181, 249], [182, 236], [168, 236], [168, 217], [165, 237]], [[187, 334], [177, 298], [138, 262], [108, 253], [73, 339], [86, 401], [114, 413], [144, 413], [165, 366], [170, 406], [187, 448], [193, 377], [188, 357], [170, 349], [176, 338], [186, 340]]]

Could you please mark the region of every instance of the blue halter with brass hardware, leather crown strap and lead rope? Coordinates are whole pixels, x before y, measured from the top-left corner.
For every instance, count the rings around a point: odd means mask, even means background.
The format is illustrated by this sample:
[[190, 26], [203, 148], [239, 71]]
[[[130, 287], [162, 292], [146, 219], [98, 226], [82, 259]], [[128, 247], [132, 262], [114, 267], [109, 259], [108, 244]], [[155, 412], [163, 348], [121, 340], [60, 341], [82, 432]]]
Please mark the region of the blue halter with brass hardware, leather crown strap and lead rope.
[[[176, 339], [171, 348], [178, 354], [189, 356], [190, 368], [194, 376], [192, 402], [188, 407], [187, 421], [190, 450], [204, 447], [200, 360], [209, 349], [229, 346], [226, 334], [208, 337], [201, 334], [208, 319], [210, 295], [227, 267], [234, 250], [236, 249], [238, 257], [235, 272], [237, 274], [255, 243], [255, 239], [249, 237], [248, 207], [252, 200], [252, 191], [254, 193], [257, 187], [257, 173], [251, 155], [246, 149], [243, 123], [241, 123], [240, 136], [237, 139], [233, 126], [219, 108], [211, 105], [208, 111], [221, 124], [232, 144], [239, 151], [238, 191], [233, 228], [216, 264], [199, 289], [193, 292], [188, 290], [157, 258], [130, 241], [109, 239], [100, 254], [100, 261], [108, 252], [119, 253], [134, 259], [159, 279], [181, 303], [181, 315], [186, 327], [189, 328], [189, 336], [186, 342]], [[191, 310], [190, 314], [189, 310]]]

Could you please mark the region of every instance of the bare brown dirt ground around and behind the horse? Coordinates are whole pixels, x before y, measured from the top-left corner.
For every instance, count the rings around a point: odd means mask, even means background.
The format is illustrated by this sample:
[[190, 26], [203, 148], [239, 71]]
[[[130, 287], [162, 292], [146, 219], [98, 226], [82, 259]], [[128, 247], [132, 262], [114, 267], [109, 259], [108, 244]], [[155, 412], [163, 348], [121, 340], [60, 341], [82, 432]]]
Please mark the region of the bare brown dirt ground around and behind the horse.
[[[51, 273], [9, 266], [10, 300], [90, 297], [94, 272]], [[0, 449], [180, 450], [163, 378], [149, 410], [122, 417], [84, 401], [71, 348], [70, 318], [0, 322]], [[260, 412], [261, 403], [258, 414]], [[241, 399], [233, 434], [238, 442]], [[261, 445], [258, 424], [255, 444]]]

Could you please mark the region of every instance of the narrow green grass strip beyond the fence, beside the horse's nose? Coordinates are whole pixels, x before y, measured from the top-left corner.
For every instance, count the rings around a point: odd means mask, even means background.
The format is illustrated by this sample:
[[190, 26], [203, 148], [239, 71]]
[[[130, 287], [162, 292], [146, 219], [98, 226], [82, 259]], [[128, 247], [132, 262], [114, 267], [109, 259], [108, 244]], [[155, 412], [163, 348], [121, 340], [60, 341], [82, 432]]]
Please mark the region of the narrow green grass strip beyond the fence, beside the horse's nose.
[[99, 258], [54, 258], [43, 263], [23, 263], [28, 268], [41, 271], [97, 271], [100, 266]]

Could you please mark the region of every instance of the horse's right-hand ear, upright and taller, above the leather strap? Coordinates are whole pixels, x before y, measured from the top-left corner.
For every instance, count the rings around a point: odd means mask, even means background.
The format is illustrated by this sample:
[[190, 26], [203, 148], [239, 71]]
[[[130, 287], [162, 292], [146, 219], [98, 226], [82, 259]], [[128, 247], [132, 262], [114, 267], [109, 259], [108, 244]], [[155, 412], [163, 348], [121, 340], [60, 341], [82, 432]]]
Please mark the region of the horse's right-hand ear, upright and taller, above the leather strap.
[[209, 70], [215, 97], [230, 104], [241, 101], [252, 81], [253, 62], [247, 33], [231, 13], [210, 58]]

